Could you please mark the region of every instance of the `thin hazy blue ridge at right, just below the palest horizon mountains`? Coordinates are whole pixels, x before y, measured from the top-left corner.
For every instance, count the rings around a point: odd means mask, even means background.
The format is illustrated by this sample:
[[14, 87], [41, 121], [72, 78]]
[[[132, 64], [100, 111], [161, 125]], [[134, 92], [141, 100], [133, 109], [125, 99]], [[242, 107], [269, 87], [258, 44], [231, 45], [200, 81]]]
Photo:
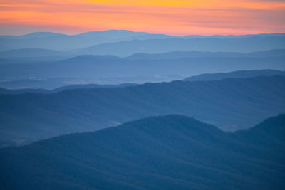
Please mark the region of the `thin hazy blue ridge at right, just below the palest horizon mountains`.
[[181, 59], [181, 58], [202, 58], [202, 57], [285, 57], [285, 49], [276, 49], [270, 51], [257, 51], [251, 53], [238, 52], [202, 52], [202, 51], [172, 51], [168, 53], [135, 53], [127, 57], [129, 60], [161, 60], [161, 59]]

